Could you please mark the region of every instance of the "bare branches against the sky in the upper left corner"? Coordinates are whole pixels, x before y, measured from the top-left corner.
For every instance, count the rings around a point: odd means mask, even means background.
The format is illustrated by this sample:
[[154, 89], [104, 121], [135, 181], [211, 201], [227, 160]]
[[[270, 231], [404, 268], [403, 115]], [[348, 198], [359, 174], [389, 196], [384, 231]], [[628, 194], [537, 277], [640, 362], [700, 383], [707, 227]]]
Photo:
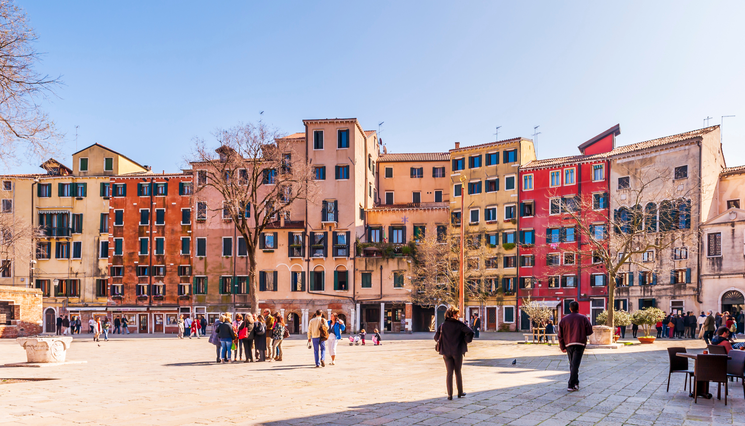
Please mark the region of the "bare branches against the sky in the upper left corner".
[[28, 158], [46, 157], [62, 140], [39, 105], [61, 82], [36, 71], [41, 56], [34, 49], [36, 40], [25, 12], [13, 1], [0, 0], [0, 161], [6, 167], [19, 151]]

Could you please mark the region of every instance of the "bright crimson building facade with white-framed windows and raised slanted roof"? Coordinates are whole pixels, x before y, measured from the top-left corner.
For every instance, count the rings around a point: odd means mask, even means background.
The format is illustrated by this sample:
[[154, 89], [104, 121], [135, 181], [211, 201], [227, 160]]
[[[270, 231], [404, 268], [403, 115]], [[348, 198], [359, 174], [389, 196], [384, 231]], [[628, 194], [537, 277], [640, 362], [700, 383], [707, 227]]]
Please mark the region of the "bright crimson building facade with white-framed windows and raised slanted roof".
[[[531, 161], [519, 172], [518, 304], [541, 301], [554, 309], [554, 323], [574, 300], [593, 323], [606, 309], [606, 271], [578, 252], [589, 251], [589, 238], [608, 237], [607, 156], [620, 132], [614, 126], [580, 145], [582, 155]], [[577, 215], [592, 236], [577, 229]], [[520, 328], [530, 328], [522, 311]]]

